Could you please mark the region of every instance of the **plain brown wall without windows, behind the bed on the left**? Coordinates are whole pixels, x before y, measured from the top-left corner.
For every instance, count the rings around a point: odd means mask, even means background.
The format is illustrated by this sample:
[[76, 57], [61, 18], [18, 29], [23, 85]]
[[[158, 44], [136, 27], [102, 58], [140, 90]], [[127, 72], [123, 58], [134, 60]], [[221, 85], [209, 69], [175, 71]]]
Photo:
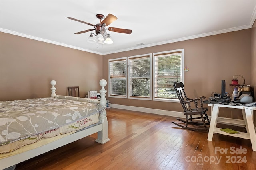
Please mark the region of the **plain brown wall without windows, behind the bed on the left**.
[[100, 90], [102, 55], [0, 32], [0, 101], [66, 95], [79, 86], [80, 96]]

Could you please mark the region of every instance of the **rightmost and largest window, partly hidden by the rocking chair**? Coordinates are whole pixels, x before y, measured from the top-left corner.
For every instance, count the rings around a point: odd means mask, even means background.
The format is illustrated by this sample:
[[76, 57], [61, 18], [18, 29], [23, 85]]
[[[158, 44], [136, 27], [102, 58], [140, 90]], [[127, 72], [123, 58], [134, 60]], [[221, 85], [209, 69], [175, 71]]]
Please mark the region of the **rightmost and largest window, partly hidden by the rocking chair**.
[[172, 85], [184, 82], [184, 49], [153, 53], [153, 57], [153, 100], [176, 101], [178, 98]]

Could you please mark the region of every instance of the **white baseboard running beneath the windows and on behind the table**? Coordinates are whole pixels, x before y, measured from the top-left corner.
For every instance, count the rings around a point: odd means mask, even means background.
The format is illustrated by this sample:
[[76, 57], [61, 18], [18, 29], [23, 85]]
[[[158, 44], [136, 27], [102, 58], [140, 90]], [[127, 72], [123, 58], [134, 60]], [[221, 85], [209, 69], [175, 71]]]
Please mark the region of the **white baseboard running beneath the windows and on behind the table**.
[[[152, 113], [152, 114], [157, 114], [157, 115], [166, 115], [166, 116], [172, 116], [172, 117], [186, 118], [186, 116], [183, 114], [183, 112], [178, 112], [178, 111], [150, 109], [150, 108], [145, 108], [145, 107], [126, 106], [126, 105], [120, 105], [120, 104], [111, 104], [111, 107], [116, 108], [116, 109], [140, 111], [140, 112], [144, 112], [144, 113]], [[208, 115], [208, 117], [211, 120], [211, 116]], [[235, 121], [236, 126], [241, 126], [241, 127], [245, 126], [243, 120], [226, 118], [226, 117], [218, 117], [218, 123], [229, 124], [228, 122], [230, 122], [230, 121]]]

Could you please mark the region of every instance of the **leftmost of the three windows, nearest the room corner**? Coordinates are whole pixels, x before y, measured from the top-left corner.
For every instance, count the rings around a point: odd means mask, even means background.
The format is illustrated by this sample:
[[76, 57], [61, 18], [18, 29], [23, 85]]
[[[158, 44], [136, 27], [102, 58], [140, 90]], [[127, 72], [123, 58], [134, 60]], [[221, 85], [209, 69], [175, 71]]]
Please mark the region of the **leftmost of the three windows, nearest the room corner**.
[[127, 98], [127, 58], [108, 61], [109, 68], [109, 96]]

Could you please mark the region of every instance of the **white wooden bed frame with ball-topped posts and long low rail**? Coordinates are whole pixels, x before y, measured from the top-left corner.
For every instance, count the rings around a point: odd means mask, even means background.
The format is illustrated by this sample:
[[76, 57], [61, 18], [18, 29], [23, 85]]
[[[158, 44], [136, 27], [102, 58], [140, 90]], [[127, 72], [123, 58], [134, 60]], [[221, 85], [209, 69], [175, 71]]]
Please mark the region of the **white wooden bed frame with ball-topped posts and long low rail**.
[[[55, 93], [56, 92], [56, 88], [55, 88], [56, 81], [52, 80], [51, 85], [52, 85], [51, 97], [54, 97], [54, 96], [56, 96], [56, 93]], [[104, 79], [100, 80], [100, 86], [102, 88], [100, 90], [101, 98], [98, 103], [102, 104], [102, 106], [105, 106], [105, 107], [106, 107], [106, 97], [105, 96], [106, 96], [107, 90], [105, 90], [104, 87], [106, 85], [107, 85], [106, 80], [104, 80]], [[97, 101], [98, 100], [91, 100], [91, 102], [94, 102], [94, 103], [95, 102], [97, 103]], [[108, 138], [108, 119], [106, 117], [106, 110], [104, 111], [104, 113], [100, 114], [99, 118], [100, 118], [100, 121], [102, 122], [102, 124], [90, 127], [88, 129], [85, 129], [82, 131], [78, 131], [78, 132], [68, 135], [64, 138], [58, 139], [54, 142], [47, 143], [46, 145], [43, 145], [41, 147], [0, 159], [0, 169], [1, 170], [5, 169], [5, 168], [14, 169], [16, 164], [18, 164], [20, 162], [23, 162], [30, 158], [34, 158], [35, 156], [46, 153], [46, 152], [56, 149], [58, 147], [64, 146], [68, 143], [77, 141], [78, 139], [82, 139], [82, 138], [92, 135], [94, 133], [98, 133], [98, 138], [95, 140], [96, 142], [103, 144], [103, 143], [110, 141], [110, 139]]]

